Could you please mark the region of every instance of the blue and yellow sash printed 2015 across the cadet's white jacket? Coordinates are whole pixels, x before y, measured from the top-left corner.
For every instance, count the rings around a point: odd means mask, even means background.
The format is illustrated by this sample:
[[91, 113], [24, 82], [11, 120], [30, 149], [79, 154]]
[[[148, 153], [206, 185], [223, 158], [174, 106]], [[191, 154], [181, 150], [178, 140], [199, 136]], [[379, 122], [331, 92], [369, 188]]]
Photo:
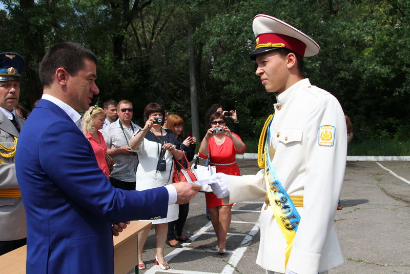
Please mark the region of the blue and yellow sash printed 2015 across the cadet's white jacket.
[[272, 166], [271, 158], [269, 155], [269, 145], [271, 140], [270, 127], [273, 121], [273, 116], [268, 124], [268, 136], [265, 142], [264, 148], [264, 182], [266, 182], [267, 196], [271, 205], [273, 215], [278, 223], [283, 237], [286, 240], [288, 246], [285, 249], [285, 269], [288, 264], [289, 256], [293, 246], [293, 240], [298, 229], [300, 222], [300, 215], [296, 210], [294, 203], [289, 197], [288, 193], [284, 190], [282, 184], [279, 182], [278, 175]]

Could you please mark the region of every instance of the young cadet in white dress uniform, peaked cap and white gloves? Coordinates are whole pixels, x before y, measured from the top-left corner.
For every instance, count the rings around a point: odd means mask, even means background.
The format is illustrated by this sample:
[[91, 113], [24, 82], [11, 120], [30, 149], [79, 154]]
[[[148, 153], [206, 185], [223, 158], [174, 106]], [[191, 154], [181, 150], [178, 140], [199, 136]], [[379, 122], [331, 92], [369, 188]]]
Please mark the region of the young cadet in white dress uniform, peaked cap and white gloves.
[[[326, 273], [343, 263], [333, 220], [346, 163], [344, 114], [332, 94], [303, 79], [303, 57], [320, 50], [315, 41], [269, 15], [257, 15], [253, 30], [257, 45], [251, 59], [257, 62], [256, 74], [268, 92], [277, 92], [278, 102], [267, 113], [275, 115], [265, 147], [270, 158], [265, 161], [300, 215], [286, 261], [288, 243], [280, 228], [285, 222], [275, 220], [265, 199], [256, 263], [267, 273]], [[215, 194], [229, 197], [229, 203], [263, 198], [267, 189], [276, 189], [269, 178], [264, 180], [263, 169], [242, 177], [217, 173], [211, 179], [219, 183], [212, 185]]]

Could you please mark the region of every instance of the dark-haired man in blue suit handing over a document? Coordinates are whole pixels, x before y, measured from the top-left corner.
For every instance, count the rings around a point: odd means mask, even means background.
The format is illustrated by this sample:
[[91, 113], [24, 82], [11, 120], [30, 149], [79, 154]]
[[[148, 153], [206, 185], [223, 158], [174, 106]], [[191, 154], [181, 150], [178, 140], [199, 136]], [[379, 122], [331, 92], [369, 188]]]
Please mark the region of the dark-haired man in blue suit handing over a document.
[[111, 186], [78, 128], [78, 112], [99, 93], [96, 63], [90, 50], [69, 42], [52, 47], [40, 63], [44, 94], [16, 152], [27, 273], [113, 273], [113, 223], [163, 218], [169, 204], [187, 203], [200, 189], [188, 183], [146, 191]]

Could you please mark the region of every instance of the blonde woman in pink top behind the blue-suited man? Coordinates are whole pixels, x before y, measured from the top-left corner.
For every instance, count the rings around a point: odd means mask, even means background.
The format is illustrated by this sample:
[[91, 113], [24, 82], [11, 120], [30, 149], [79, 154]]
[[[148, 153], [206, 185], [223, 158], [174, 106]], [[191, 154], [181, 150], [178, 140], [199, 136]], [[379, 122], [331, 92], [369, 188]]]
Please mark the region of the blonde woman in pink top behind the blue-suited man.
[[109, 170], [106, 162], [107, 145], [104, 141], [103, 134], [98, 130], [103, 128], [105, 120], [104, 109], [98, 107], [90, 107], [83, 115], [81, 125], [83, 133], [90, 141], [94, 150], [95, 158], [99, 168], [103, 170], [104, 174], [109, 178]]

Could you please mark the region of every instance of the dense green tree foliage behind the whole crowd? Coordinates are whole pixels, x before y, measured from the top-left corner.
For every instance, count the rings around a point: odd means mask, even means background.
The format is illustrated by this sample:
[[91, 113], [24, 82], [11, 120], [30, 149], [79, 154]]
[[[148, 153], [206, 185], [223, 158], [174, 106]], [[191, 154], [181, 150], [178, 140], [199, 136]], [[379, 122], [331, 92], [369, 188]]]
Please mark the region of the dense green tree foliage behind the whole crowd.
[[[38, 63], [47, 49], [73, 41], [99, 58], [96, 102], [134, 103], [134, 118], [158, 102], [190, 127], [188, 54], [194, 49], [198, 112], [237, 109], [241, 135], [256, 138], [273, 111], [248, 56], [252, 19], [265, 13], [301, 29], [321, 46], [305, 76], [334, 94], [351, 116], [355, 139], [407, 140], [410, 113], [410, 3], [405, 0], [3, 0], [2, 51], [27, 63], [21, 100], [40, 97]], [[191, 29], [192, 41], [188, 39]], [[200, 127], [204, 128], [203, 125]]]

